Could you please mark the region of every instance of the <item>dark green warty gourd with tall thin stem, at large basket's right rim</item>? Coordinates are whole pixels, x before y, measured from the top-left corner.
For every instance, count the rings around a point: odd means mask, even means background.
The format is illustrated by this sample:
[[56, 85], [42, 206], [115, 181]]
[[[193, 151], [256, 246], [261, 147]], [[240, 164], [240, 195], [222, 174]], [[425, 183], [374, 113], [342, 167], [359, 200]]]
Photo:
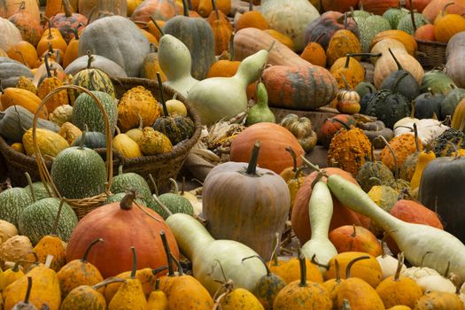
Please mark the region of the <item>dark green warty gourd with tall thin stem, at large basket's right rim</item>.
[[188, 116], [182, 116], [178, 113], [168, 113], [167, 103], [163, 97], [161, 87], [162, 81], [159, 73], [157, 73], [157, 77], [159, 79], [160, 101], [163, 106], [163, 116], [160, 116], [157, 120], [155, 120], [152, 127], [167, 136], [169, 141], [175, 145], [182, 142], [182, 140], [190, 139], [190, 137], [194, 134], [195, 125]]

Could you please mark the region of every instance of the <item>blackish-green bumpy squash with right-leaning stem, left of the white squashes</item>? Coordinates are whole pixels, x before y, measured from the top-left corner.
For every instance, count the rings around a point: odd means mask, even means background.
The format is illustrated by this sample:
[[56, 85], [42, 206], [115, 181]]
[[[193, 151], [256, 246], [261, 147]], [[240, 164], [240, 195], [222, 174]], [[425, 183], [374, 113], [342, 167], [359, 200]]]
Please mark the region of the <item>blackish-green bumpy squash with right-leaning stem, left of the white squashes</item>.
[[387, 128], [392, 128], [398, 120], [410, 115], [410, 102], [397, 92], [400, 82], [406, 76], [406, 73], [400, 75], [392, 90], [378, 90], [368, 101], [366, 113], [383, 120]]

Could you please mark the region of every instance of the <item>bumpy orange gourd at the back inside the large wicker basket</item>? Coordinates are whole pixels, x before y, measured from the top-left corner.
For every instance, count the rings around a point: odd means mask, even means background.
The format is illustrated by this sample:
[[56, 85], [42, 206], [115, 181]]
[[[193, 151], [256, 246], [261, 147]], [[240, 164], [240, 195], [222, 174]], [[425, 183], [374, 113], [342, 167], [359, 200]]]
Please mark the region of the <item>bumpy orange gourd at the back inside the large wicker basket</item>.
[[118, 127], [123, 132], [137, 128], [139, 117], [143, 120], [143, 127], [151, 126], [159, 118], [161, 109], [151, 91], [136, 86], [129, 89], [118, 103]]

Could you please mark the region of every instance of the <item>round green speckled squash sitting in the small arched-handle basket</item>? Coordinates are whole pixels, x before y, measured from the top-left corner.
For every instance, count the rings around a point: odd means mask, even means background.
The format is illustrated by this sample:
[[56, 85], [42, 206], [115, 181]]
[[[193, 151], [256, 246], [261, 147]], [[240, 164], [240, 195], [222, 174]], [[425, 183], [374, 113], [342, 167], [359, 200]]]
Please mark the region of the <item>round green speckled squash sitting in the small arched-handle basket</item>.
[[86, 147], [72, 146], [59, 152], [50, 175], [58, 192], [68, 199], [90, 198], [105, 191], [104, 159]]

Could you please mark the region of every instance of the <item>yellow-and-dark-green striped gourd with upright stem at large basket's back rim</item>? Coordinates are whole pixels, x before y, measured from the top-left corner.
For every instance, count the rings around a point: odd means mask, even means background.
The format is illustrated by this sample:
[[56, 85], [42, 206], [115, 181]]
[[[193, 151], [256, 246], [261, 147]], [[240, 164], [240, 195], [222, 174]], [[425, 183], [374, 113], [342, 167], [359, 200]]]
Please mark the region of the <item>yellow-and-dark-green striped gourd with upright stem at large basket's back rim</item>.
[[[112, 97], [116, 97], [112, 80], [108, 74], [105, 74], [105, 72], [100, 69], [92, 68], [93, 57], [90, 55], [90, 53], [88, 53], [88, 57], [89, 60], [87, 63], [87, 68], [74, 74], [71, 83], [74, 85], [82, 86], [89, 90], [103, 91]], [[79, 96], [80, 93], [74, 89], [69, 89], [68, 92], [71, 104], [73, 105], [74, 100]]]

